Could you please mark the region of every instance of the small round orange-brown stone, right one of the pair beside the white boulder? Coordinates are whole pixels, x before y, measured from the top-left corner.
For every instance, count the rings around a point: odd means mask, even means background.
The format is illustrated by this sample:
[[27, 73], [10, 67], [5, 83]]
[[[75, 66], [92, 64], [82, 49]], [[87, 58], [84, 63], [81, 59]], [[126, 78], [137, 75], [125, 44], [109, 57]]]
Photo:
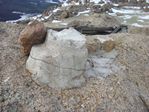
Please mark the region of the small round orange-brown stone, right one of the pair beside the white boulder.
[[107, 40], [102, 44], [103, 50], [110, 52], [115, 48], [115, 42], [112, 40]]

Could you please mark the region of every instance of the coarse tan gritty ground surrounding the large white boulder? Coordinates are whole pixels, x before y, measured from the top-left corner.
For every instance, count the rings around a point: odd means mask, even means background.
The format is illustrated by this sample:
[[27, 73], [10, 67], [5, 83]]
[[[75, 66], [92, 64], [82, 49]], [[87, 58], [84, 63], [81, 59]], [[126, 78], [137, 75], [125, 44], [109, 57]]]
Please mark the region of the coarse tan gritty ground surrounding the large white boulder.
[[37, 85], [17, 43], [23, 25], [0, 23], [0, 112], [149, 112], [149, 37], [111, 34], [120, 72], [55, 90]]

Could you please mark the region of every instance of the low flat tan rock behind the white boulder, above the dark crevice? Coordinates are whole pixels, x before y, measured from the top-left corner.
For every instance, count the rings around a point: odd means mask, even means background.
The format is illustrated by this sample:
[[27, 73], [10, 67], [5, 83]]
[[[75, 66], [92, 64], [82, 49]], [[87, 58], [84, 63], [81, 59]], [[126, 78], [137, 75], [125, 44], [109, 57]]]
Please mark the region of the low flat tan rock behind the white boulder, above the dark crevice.
[[79, 15], [60, 20], [59, 22], [45, 22], [44, 24], [46, 27], [50, 28], [66, 28], [68, 27], [67, 25], [73, 21], [86, 22], [89, 23], [90, 26], [94, 27], [113, 27], [120, 25], [119, 20], [107, 14], [89, 14], [88, 16]]

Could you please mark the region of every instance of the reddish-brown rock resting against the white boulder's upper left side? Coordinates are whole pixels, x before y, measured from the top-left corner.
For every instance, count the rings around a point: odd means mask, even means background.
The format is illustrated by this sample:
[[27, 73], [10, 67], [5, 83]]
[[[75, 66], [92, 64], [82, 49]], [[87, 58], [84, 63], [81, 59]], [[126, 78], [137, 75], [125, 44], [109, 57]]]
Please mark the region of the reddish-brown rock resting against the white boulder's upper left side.
[[24, 55], [29, 55], [33, 45], [43, 43], [47, 30], [43, 23], [33, 21], [19, 35], [18, 43]]

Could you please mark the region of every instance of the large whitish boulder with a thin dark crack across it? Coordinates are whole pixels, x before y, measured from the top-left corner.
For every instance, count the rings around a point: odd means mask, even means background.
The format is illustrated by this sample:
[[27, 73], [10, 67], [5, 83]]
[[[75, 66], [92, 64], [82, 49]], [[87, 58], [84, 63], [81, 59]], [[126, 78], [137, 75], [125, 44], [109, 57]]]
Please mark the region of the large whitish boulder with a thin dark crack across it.
[[74, 29], [49, 30], [44, 44], [31, 49], [26, 68], [41, 85], [53, 88], [80, 87], [87, 61], [86, 39]]

